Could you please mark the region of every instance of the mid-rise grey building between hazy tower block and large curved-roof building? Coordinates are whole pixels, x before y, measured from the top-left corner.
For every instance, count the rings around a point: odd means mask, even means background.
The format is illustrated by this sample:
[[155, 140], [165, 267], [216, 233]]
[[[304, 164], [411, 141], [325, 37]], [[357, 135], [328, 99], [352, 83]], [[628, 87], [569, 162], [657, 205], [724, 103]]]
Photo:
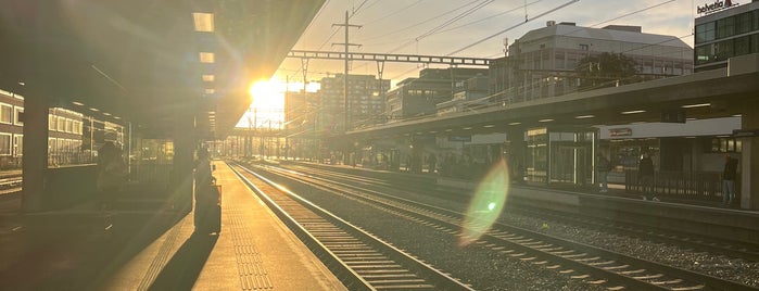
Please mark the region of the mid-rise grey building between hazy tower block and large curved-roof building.
[[391, 119], [434, 115], [438, 104], [452, 101], [454, 93], [467, 89], [467, 80], [478, 76], [488, 76], [488, 69], [425, 68], [418, 78], [407, 78], [388, 92], [388, 115]]

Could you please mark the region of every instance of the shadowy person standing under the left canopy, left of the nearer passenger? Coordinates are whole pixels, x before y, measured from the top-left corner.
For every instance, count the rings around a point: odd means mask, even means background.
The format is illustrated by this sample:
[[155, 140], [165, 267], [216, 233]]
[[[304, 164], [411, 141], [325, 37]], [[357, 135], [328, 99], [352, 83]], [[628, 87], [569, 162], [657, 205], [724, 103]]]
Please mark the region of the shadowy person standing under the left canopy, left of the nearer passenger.
[[128, 169], [122, 156], [122, 150], [112, 141], [106, 141], [98, 150], [98, 198], [100, 210], [113, 210], [118, 191], [122, 190]]

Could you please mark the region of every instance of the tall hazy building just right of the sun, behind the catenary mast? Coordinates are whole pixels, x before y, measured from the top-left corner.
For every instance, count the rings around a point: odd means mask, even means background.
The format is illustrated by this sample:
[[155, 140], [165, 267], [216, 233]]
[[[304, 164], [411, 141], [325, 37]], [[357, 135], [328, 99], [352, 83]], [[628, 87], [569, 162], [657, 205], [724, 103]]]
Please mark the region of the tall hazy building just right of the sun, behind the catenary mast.
[[[317, 125], [334, 132], [344, 130], [345, 93], [344, 75], [321, 78]], [[384, 92], [390, 89], [390, 80], [378, 80], [372, 75], [347, 76], [349, 128], [368, 126], [384, 122]]]

